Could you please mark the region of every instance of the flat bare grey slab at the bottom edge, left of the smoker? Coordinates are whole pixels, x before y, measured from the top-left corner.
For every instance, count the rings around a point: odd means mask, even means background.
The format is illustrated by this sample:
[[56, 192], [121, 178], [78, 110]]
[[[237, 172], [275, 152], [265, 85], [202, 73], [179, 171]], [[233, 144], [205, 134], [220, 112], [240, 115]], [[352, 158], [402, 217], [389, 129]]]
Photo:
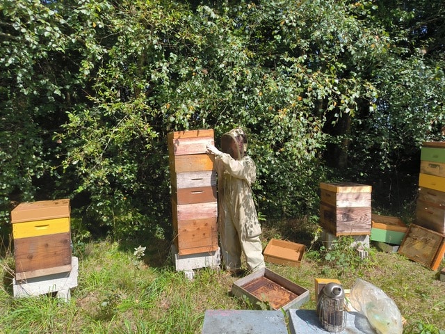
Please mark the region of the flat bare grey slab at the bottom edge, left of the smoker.
[[202, 334], [288, 334], [281, 310], [206, 310]]

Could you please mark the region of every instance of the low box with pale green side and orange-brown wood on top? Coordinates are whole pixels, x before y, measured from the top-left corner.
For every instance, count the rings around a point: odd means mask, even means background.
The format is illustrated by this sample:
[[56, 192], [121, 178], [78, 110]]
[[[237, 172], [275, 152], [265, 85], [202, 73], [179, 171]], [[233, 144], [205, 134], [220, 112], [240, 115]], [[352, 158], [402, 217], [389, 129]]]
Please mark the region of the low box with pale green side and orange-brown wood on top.
[[400, 245], [408, 230], [408, 227], [400, 218], [371, 215], [371, 237], [372, 241], [382, 241], [387, 244]]

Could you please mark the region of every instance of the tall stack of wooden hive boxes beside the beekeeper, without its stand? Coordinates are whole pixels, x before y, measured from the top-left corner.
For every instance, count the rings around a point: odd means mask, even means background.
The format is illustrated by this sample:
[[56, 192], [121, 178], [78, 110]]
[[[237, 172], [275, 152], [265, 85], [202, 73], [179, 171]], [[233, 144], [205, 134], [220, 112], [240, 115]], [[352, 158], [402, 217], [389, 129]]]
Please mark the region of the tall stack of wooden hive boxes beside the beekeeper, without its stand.
[[213, 129], [170, 132], [172, 218], [179, 255], [218, 250], [216, 168], [207, 143]]

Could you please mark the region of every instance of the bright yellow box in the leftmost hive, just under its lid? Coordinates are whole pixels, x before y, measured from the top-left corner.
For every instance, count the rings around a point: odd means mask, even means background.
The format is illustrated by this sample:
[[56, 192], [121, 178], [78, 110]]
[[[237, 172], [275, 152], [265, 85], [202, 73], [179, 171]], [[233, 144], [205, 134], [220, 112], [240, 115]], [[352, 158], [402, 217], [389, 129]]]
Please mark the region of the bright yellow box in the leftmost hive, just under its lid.
[[70, 218], [68, 217], [13, 224], [14, 239], [65, 232], [70, 232]]

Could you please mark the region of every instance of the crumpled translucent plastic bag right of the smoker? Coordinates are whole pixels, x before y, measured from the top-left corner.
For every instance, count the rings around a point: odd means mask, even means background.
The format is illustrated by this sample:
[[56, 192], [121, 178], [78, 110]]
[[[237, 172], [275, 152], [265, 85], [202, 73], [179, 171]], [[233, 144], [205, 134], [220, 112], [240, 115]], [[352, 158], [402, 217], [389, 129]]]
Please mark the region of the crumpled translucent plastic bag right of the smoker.
[[401, 312], [396, 303], [375, 285], [357, 278], [350, 289], [349, 300], [355, 310], [368, 318], [378, 334], [402, 334]]

